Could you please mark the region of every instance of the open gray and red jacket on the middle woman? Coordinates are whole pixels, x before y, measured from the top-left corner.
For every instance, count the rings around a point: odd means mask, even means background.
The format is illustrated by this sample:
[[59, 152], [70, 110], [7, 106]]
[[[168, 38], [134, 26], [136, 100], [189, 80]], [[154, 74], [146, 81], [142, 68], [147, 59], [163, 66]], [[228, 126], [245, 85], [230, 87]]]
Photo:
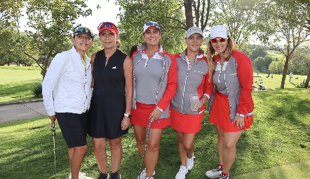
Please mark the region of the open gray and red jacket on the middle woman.
[[[138, 51], [132, 56], [133, 59], [133, 74], [135, 74], [135, 66], [141, 61], [142, 53], [144, 52], [146, 45], [138, 46]], [[160, 47], [161, 48], [161, 47]], [[162, 49], [162, 48], [161, 48]], [[163, 72], [161, 75], [161, 83], [156, 92], [156, 107], [163, 110], [159, 119], [170, 117], [169, 105], [170, 100], [175, 96], [177, 90], [177, 62], [175, 57], [165, 50], [161, 50], [159, 54], [162, 56]], [[141, 101], [143, 103], [143, 101]], [[133, 76], [133, 105], [132, 108], [136, 108], [135, 100], [135, 76]]]

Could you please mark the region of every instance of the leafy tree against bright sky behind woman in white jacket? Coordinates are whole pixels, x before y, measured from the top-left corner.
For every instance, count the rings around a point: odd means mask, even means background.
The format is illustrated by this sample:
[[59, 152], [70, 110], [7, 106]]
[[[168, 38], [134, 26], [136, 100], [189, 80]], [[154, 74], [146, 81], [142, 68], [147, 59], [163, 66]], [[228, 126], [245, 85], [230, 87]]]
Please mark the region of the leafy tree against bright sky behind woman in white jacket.
[[72, 37], [72, 31], [78, 26], [74, 20], [90, 15], [91, 10], [86, 9], [85, 1], [27, 1], [26, 13], [29, 21], [26, 29], [29, 30], [25, 33], [31, 41], [26, 43], [20, 38], [20, 47], [27, 57], [39, 65], [43, 78], [55, 54], [67, 50], [68, 37]]

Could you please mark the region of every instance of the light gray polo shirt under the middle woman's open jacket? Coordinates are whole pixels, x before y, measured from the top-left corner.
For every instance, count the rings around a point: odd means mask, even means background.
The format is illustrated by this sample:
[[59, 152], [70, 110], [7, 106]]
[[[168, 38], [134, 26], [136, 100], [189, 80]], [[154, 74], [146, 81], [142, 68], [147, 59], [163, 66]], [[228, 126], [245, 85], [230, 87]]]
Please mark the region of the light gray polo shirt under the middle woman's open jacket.
[[156, 92], [161, 83], [163, 62], [161, 55], [155, 52], [149, 59], [143, 52], [142, 59], [135, 67], [135, 99], [137, 102], [156, 104]]

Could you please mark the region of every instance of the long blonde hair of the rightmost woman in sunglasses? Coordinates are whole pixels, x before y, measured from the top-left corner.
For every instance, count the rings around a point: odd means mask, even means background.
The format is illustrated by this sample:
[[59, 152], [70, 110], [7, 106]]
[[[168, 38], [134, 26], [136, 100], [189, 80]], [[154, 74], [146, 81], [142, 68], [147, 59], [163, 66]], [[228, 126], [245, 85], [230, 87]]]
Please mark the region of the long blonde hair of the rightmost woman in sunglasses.
[[[224, 52], [224, 59], [228, 60], [231, 56], [231, 53], [235, 50], [234, 41], [228, 36], [227, 39], [227, 48]], [[209, 65], [209, 82], [211, 78], [213, 77], [213, 74], [215, 73], [215, 65], [214, 65], [214, 57], [217, 55], [217, 52], [212, 47], [211, 41], [208, 42], [208, 48], [207, 48], [207, 59], [208, 59], [208, 65]]]

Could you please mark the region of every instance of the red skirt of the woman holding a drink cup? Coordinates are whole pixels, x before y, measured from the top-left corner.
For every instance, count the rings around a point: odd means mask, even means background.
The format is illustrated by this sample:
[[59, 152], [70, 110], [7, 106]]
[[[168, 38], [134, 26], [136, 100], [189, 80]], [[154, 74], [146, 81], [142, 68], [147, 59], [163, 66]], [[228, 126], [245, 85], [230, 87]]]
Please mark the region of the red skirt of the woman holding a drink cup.
[[176, 131], [181, 131], [187, 134], [196, 134], [201, 130], [201, 122], [203, 121], [204, 115], [204, 111], [199, 115], [187, 115], [170, 108], [170, 125]]

